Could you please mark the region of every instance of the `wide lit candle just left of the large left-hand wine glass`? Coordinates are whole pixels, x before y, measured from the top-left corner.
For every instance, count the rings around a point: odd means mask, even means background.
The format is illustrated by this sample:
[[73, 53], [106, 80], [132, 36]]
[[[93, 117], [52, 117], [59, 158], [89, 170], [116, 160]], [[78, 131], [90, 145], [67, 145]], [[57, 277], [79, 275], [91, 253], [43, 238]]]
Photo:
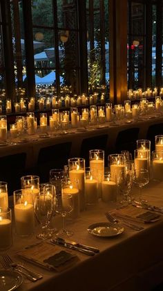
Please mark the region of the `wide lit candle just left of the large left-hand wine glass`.
[[31, 203], [15, 204], [15, 228], [17, 235], [30, 235], [34, 232], [35, 217]]

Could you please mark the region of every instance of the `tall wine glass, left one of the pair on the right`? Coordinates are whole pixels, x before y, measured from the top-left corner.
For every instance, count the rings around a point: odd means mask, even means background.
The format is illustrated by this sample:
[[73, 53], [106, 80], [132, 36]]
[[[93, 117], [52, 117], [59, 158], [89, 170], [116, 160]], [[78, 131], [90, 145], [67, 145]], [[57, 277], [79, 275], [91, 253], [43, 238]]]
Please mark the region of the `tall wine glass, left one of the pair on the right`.
[[116, 181], [119, 194], [123, 196], [120, 203], [128, 205], [132, 201], [130, 192], [133, 185], [133, 163], [126, 163], [124, 169], [117, 172]]

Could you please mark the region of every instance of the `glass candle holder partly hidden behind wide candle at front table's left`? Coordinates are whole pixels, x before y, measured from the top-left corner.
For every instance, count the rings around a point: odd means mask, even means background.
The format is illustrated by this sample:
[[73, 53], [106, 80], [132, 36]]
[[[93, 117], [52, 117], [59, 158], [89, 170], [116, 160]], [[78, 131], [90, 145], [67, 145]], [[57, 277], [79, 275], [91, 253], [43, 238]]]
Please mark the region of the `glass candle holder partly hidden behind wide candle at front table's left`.
[[35, 199], [35, 196], [39, 194], [39, 176], [35, 175], [22, 176], [21, 188], [28, 190], [28, 192], [30, 191]]

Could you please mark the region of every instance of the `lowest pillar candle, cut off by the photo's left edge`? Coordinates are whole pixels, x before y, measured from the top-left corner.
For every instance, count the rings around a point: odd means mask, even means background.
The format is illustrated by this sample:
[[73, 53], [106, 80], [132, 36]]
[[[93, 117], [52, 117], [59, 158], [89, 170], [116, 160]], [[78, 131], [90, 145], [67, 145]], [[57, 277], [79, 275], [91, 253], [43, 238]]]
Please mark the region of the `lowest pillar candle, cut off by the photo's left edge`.
[[10, 219], [0, 216], [0, 249], [8, 249], [12, 245], [12, 223]]

